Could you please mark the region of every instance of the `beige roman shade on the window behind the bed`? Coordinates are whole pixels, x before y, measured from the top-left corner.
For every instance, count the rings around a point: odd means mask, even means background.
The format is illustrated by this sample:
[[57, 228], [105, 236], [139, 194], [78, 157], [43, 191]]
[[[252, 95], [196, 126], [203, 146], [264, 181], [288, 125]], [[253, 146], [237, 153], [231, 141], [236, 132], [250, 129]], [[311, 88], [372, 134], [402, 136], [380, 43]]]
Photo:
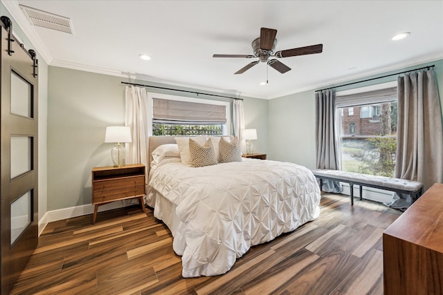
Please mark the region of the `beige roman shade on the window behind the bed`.
[[152, 106], [155, 122], [226, 123], [224, 105], [153, 98]]

